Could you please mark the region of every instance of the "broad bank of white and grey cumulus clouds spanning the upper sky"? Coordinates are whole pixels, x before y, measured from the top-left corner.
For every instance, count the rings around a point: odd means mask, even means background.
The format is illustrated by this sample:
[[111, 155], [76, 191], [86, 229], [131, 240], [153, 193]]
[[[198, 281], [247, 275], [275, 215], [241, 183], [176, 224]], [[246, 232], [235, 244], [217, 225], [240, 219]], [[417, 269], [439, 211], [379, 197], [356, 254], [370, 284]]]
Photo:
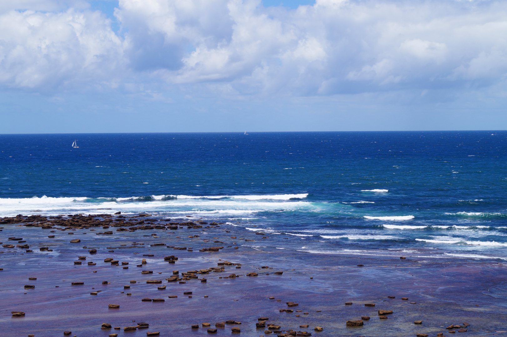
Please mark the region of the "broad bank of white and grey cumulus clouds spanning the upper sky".
[[120, 0], [119, 34], [82, 2], [64, 5], [75, 8], [0, 7], [0, 83], [61, 89], [128, 76], [305, 96], [490, 86], [507, 72], [500, 1], [317, 0], [289, 10], [260, 0]]

